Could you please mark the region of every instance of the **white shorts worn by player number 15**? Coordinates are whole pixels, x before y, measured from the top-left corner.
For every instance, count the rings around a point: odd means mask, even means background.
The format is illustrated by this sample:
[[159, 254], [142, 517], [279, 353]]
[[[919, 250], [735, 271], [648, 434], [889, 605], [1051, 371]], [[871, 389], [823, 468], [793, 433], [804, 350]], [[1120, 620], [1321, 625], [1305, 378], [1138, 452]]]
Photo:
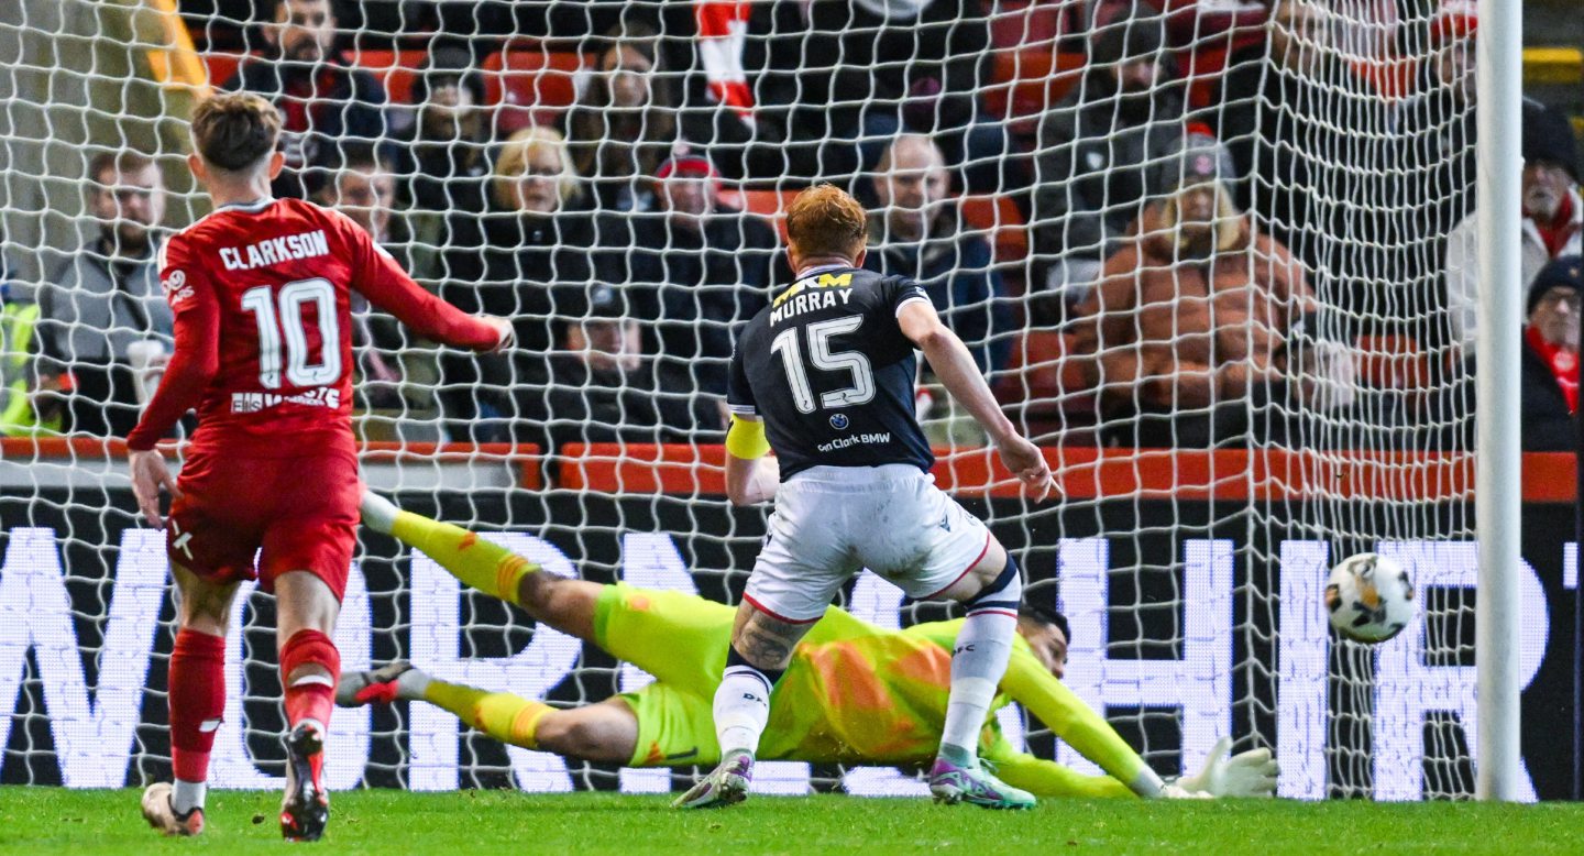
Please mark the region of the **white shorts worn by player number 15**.
[[917, 466], [816, 466], [776, 490], [743, 599], [782, 621], [817, 621], [865, 567], [933, 598], [988, 548], [990, 529]]

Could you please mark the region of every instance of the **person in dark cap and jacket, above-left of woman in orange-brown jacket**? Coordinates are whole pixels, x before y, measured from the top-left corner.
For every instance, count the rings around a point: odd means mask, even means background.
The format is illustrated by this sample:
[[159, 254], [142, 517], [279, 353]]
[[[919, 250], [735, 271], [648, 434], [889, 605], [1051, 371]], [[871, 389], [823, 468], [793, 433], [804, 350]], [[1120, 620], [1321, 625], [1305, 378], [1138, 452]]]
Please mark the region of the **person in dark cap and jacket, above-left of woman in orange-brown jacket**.
[[1039, 125], [1034, 282], [1066, 303], [1088, 296], [1142, 212], [1153, 165], [1182, 144], [1183, 94], [1158, 14], [1145, 6], [1091, 40], [1083, 82]]

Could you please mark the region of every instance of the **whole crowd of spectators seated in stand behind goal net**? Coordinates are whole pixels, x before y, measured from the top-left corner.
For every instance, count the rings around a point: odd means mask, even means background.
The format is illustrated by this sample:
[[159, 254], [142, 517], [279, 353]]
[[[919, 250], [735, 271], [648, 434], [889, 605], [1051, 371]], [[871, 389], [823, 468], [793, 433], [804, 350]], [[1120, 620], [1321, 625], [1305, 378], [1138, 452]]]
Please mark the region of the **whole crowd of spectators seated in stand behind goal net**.
[[[1009, 404], [1060, 363], [1047, 441], [1472, 442], [1472, 2], [1365, 27], [1388, 54], [1427, 46], [1400, 79], [1353, 62], [1318, 3], [1255, 21], [1087, 3], [1053, 36], [1087, 62], [1031, 117], [992, 105], [984, 0], [700, 0], [683, 22], [632, 5], [599, 33], [537, 33], [596, 48], [556, 111], [507, 109], [489, 33], [440, 21], [398, 97], [355, 62], [342, 3], [263, 6], [215, 82], [280, 108], [274, 192], [344, 211], [447, 301], [516, 327], [512, 352], [464, 355], [355, 306], [360, 407], [407, 439], [718, 441], [733, 331], [794, 276], [748, 203], [833, 181], [871, 208], [865, 265], [917, 279]], [[1568, 120], [1522, 116], [1524, 431], [1552, 449], [1578, 407], [1584, 198]], [[171, 347], [160, 165], [117, 149], [82, 178], [82, 244], [40, 250], [35, 293], [0, 293], [10, 434], [124, 434]], [[985, 200], [1026, 257], [974, 225]], [[1361, 358], [1381, 342], [1392, 371]], [[936, 441], [974, 442], [931, 415]]]

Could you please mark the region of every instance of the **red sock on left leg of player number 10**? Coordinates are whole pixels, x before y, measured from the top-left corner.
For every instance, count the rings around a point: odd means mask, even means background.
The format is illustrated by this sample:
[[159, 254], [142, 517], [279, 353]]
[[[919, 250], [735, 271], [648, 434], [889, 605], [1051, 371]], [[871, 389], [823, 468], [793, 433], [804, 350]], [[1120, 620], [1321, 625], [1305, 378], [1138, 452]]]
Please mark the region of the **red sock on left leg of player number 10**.
[[209, 778], [209, 750], [225, 715], [225, 637], [176, 632], [171, 650], [171, 761], [176, 778]]

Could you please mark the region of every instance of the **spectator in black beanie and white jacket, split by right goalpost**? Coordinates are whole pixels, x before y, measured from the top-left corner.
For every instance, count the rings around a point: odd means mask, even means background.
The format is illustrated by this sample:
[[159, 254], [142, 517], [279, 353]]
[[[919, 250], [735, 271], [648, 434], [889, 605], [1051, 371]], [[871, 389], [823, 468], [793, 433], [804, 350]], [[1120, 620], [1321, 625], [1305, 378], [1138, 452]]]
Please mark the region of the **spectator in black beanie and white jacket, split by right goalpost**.
[[[1524, 231], [1519, 247], [1521, 285], [1533, 282], [1548, 262], [1584, 254], [1584, 198], [1579, 197], [1578, 139], [1560, 113], [1524, 100]], [[1470, 214], [1446, 238], [1446, 312], [1453, 341], [1475, 344], [1479, 284], [1479, 224]]]

